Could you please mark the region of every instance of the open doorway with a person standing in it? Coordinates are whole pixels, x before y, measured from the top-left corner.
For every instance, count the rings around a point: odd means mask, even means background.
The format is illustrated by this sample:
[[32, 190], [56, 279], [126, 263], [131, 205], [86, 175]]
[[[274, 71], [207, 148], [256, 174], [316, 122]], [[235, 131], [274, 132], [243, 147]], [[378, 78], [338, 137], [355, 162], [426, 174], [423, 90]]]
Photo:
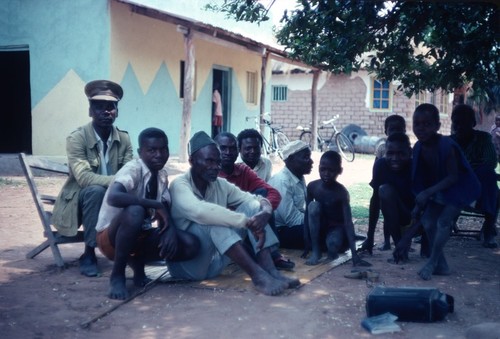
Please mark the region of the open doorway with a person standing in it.
[[[231, 122], [229, 76], [230, 70], [227, 68], [217, 67], [212, 71], [212, 138], [220, 132], [229, 130]], [[222, 113], [222, 118], [216, 117], [217, 111], [219, 114]]]

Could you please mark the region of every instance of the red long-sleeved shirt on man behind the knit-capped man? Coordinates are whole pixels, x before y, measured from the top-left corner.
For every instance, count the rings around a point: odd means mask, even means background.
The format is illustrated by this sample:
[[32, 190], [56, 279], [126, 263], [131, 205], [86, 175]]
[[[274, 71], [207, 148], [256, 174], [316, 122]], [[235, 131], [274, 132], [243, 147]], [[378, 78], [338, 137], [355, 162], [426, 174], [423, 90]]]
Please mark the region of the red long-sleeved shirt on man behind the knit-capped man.
[[280, 193], [263, 179], [259, 178], [257, 173], [245, 164], [234, 164], [233, 173], [227, 175], [223, 171], [220, 171], [219, 177], [235, 184], [245, 192], [253, 193], [257, 189], [265, 189], [267, 191], [266, 198], [271, 203], [273, 210], [278, 208], [280, 204]]

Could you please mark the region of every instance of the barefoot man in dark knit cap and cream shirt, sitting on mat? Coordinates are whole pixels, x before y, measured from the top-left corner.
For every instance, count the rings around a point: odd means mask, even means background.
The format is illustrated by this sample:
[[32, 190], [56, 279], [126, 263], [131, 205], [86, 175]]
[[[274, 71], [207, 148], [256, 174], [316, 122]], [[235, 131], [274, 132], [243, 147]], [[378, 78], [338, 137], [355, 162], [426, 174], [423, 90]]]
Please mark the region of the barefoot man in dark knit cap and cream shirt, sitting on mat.
[[[270, 247], [278, 239], [267, 224], [272, 213], [269, 201], [218, 177], [221, 154], [205, 132], [193, 135], [188, 153], [191, 169], [170, 185], [172, 217], [176, 227], [198, 237], [201, 248], [192, 260], [169, 263], [172, 276], [210, 279], [233, 261], [266, 295], [299, 286], [298, 279], [283, 276], [271, 259]], [[247, 236], [253, 252], [242, 243]]]

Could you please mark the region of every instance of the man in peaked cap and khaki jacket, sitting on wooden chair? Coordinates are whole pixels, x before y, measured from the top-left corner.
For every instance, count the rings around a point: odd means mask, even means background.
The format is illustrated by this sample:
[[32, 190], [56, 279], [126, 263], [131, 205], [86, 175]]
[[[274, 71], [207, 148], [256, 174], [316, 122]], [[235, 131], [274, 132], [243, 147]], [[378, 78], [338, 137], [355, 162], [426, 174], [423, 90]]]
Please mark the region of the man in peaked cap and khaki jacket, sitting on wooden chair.
[[109, 80], [95, 80], [85, 86], [92, 121], [77, 128], [66, 139], [70, 174], [57, 197], [52, 222], [64, 236], [74, 236], [83, 226], [85, 251], [79, 259], [80, 272], [97, 276], [95, 255], [96, 223], [106, 188], [114, 174], [132, 160], [127, 132], [113, 123], [123, 89]]

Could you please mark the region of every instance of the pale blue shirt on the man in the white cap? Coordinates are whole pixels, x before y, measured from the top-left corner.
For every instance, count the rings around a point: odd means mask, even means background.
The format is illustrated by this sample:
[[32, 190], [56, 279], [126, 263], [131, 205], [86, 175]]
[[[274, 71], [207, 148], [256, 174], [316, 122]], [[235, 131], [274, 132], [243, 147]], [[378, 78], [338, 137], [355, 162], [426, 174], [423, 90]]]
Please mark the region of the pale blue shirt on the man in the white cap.
[[274, 212], [276, 226], [293, 227], [304, 224], [306, 182], [297, 178], [287, 167], [273, 175], [269, 184], [281, 194], [281, 203]]

